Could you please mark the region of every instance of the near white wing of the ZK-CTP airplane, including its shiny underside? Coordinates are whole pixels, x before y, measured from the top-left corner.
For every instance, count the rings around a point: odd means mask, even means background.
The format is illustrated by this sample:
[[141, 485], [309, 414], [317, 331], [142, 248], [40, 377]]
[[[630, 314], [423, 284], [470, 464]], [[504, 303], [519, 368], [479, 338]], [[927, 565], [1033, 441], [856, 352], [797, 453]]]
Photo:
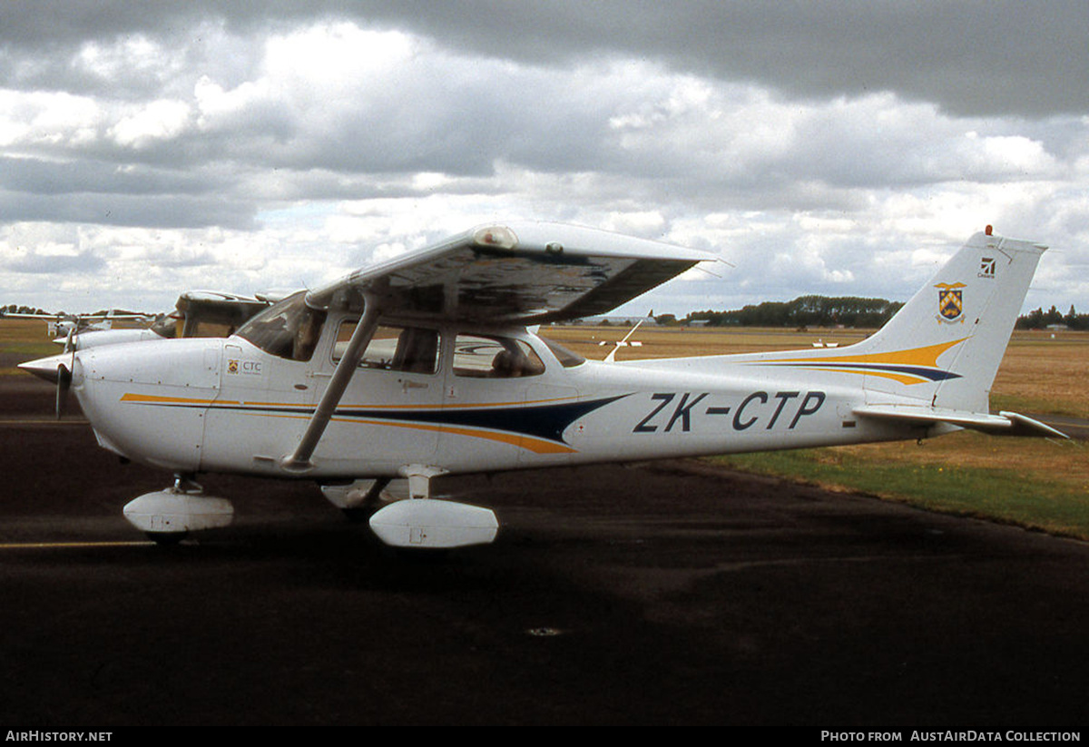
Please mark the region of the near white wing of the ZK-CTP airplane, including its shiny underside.
[[595, 229], [505, 223], [363, 268], [311, 291], [307, 304], [328, 308], [366, 294], [388, 315], [530, 324], [604, 314], [714, 259]]

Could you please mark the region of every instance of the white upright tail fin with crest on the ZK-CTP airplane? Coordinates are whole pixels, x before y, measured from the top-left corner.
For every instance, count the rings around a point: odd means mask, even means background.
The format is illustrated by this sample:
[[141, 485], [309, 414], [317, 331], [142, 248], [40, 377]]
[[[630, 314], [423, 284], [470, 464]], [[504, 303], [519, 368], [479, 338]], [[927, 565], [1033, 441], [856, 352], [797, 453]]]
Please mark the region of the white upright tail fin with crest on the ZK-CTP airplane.
[[933, 407], [987, 413], [994, 375], [1045, 248], [990, 230], [969, 238], [888, 324], [852, 346], [870, 362], [918, 372], [908, 385], [880, 371], [868, 375], [867, 399], [880, 402], [882, 393], [895, 393]]

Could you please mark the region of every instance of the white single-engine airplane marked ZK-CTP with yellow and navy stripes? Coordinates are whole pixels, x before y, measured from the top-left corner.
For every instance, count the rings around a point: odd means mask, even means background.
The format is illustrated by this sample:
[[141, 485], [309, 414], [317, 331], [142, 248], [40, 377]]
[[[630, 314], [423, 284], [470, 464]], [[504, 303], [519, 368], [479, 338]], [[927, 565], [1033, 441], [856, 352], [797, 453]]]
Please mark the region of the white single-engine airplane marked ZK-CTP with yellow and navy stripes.
[[498, 522], [431, 498], [440, 475], [959, 428], [1061, 437], [988, 402], [1043, 250], [978, 233], [849, 347], [604, 363], [528, 326], [603, 314], [714, 257], [507, 223], [299, 292], [228, 339], [93, 347], [22, 367], [70, 382], [99, 444], [175, 473], [173, 487], [124, 510], [159, 541], [230, 523], [231, 504], [194, 480], [235, 473], [315, 480], [352, 510], [407, 480], [407, 500], [375, 512], [371, 528], [395, 547], [460, 547], [492, 541]]

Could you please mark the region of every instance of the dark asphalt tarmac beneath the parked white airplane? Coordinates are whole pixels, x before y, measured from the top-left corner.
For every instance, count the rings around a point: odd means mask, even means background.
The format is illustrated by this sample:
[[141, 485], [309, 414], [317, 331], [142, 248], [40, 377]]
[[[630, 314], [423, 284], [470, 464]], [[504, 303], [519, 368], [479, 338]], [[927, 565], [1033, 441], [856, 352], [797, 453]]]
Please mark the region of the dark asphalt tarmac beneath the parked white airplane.
[[121, 507], [171, 476], [15, 380], [5, 728], [1087, 721], [1085, 543], [669, 462], [446, 478], [500, 536], [424, 556], [308, 482], [206, 476], [235, 523], [160, 548]]

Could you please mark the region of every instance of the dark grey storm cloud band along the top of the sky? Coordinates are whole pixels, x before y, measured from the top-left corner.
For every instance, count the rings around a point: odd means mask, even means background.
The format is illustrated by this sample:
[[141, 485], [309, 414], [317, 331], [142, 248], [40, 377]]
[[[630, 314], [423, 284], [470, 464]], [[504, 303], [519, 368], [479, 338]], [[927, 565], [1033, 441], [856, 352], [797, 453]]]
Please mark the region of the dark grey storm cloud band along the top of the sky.
[[[3, 3], [0, 42], [48, 57], [50, 49], [87, 39], [147, 34], [193, 41], [201, 24], [244, 34], [314, 19], [409, 28], [474, 54], [533, 63], [565, 64], [608, 53], [656, 59], [729, 81], [757, 82], [790, 96], [891, 90], [962, 115], [1033, 118], [1081, 112], [1089, 105], [1089, 7], [1078, 0], [219, 0], [138, 5], [54, 0]], [[199, 44], [189, 53], [199, 57]], [[13, 79], [49, 65], [8, 69]]]

